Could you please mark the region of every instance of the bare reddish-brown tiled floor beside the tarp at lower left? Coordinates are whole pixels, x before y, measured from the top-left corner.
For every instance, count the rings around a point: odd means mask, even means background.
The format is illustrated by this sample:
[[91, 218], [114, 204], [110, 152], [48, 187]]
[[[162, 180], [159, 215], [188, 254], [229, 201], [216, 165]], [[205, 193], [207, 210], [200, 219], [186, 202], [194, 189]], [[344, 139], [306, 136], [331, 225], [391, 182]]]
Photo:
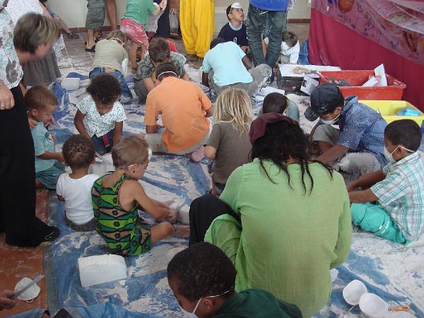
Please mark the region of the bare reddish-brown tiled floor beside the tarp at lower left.
[[[37, 191], [37, 206], [35, 214], [47, 221], [47, 211], [49, 206], [49, 192], [47, 190]], [[13, 290], [16, 283], [23, 277], [35, 278], [44, 273], [43, 251], [40, 246], [35, 249], [12, 247], [4, 241], [4, 233], [0, 234], [0, 288]], [[18, 300], [18, 304], [11, 310], [0, 311], [0, 317], [8, 317], [11, 314], [18, 314], [33, 308], [47, 308], [47, 297], [45, 280], [42, 279], [38, 285], [41, 288], [40, 295], [31, 303]]]

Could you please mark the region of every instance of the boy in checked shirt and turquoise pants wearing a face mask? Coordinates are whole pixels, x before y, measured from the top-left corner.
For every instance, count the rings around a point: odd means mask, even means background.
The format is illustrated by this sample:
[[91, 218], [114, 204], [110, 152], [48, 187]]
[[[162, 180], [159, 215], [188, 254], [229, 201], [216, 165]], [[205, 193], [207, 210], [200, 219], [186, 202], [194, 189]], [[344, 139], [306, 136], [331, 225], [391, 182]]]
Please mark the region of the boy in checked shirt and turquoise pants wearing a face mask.
[[[349, 184], [352, 220], [363, 230], [407, 245], [424, 232], [424, 158], [416, 122], [391, 122], [384, 131], [389, 164]], [[360, 191], [354, 191], [361, 188]]]

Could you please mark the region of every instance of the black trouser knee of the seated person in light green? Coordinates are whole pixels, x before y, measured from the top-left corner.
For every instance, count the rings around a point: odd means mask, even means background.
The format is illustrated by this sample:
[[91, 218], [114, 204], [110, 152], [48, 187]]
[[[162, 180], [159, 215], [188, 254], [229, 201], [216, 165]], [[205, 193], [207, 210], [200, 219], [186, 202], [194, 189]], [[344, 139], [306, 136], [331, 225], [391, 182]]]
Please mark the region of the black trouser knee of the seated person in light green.
[[193, 245], [203, 242], [206, 231], [215, 218], [223, 214], [230, 214], [236, 220], [240, 221], [240, 216], [232, 211], [230, 206], [224, 201], [221, 201], [213, 194], [204, 194], [197, 199], [194, 199], [190, 205], [190, 243]]

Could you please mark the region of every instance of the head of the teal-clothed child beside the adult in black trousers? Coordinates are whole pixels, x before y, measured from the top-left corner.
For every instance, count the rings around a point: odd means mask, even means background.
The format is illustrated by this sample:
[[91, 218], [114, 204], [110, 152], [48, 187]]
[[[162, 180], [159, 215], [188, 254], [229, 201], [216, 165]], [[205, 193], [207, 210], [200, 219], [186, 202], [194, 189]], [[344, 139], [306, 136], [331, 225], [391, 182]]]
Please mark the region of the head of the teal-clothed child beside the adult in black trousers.
[[48, 88], [44, 86], [34, 86], [25, 94], [25, 104], [37, 122], [49, 122], [53, 117], [53, 112], [57, 108], [57, 98]]

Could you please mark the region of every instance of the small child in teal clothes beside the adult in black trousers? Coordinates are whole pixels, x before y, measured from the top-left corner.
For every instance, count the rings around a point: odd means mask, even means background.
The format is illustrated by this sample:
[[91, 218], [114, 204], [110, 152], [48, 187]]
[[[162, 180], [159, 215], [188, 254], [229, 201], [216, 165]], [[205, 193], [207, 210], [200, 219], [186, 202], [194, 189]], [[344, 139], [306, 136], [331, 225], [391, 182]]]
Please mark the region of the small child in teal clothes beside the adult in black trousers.
[[37, 187], [56, 189], [57, 179], [64, 172], [64, 157], [54, 152], [54, 139], [46, 125], [52, 121], [57, 109], [57, 98], [51, 90], [43, 86], [34, 86], [25, 94], [28, 117], [38, 124], [31, 131], [35, 149], [35, 178]]

